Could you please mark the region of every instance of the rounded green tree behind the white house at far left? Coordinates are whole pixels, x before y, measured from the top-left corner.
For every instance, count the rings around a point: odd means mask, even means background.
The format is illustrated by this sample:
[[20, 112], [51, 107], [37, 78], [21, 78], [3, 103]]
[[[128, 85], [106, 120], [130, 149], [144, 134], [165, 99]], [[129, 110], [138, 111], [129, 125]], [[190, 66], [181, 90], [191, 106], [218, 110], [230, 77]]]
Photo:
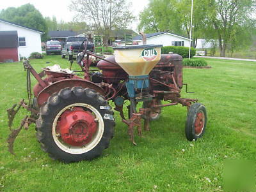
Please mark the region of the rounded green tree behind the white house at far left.
[[6, 10], [0, 12], [0, 18], [15, 24], [44, 31], [45, 34], [42, 35], [42, 41], [46, 40], [48, 30], [45, 19], [32, 4], [24, 4], [18, 8], [6, 8]]

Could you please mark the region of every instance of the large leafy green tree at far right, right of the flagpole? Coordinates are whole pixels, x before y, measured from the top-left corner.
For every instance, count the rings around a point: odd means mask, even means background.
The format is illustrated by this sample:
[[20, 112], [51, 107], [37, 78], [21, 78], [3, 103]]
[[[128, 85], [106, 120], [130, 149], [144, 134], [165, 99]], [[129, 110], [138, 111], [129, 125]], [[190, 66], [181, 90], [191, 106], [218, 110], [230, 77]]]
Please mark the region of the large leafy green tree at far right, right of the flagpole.
[[248, 31], [255, 30], [256, 22], [254, 0], [211, 0], [208, 5], [205, 32], [208, 38], [211, 34], [211, 38], [218, 39], [221, 57], [225, 57], [228, 47], [233, 51], [245, 39], [250, 41]]

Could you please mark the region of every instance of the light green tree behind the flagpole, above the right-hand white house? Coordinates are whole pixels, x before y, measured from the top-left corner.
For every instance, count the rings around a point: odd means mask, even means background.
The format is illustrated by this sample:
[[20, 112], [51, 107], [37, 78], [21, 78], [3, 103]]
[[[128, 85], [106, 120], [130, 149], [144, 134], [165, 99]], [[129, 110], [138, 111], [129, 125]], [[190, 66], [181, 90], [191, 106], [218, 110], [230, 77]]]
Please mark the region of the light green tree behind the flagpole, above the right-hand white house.
[[[205, 0], [194, 1], [193, 45], [201, 35], [205, 20]], [[145, 33], [170, 31], [189, 37], [191, 0], [151, 0], [148, 7], [140, 13], [139, 31]]]

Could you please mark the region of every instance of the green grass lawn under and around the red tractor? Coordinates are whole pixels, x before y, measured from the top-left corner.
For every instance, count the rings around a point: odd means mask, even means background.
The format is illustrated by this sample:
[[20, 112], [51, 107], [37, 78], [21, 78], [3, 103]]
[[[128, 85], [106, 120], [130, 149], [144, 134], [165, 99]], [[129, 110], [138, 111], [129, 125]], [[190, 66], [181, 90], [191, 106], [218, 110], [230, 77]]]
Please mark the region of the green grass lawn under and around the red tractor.
[[[37, 71], [57, 63], [67, 68], [68, 61], [60, 58], [46, 56], [31, 64]], [[41, 151], [34, 126], [17, 138], [17, 156], [9, 154], [6, 108], [27, 98], [26, 72], [21, 63], [0, 64], [0, 191], [222, 191], [226, 159], [256, 160], [256, 63], [207, 62], [211, 69], [184, 68], [188, 91], [196, 93], [182, 91], [182, 97], [198, 98], [207, 108], [202, 139], [186, 140], [186, 108], [179, 105], [163, 108], [161, 118], [150, 123], [151, 131], [136, 136], [134, 147], [115, 112], [115, 136], [104, 154], [71, 164]], [[15, 128], [25, 114], [20, 110]]]

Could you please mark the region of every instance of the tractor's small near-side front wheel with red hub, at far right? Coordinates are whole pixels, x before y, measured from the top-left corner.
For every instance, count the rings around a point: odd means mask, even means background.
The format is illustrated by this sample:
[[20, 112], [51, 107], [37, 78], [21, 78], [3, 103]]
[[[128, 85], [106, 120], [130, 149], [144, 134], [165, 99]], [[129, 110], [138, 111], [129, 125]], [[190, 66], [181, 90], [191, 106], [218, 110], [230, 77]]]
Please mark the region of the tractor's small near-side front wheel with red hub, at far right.
[[207, 113], [204, 105], [201, 103], [193, 103], [189, 107], [185, 133], [189, 141], [197, 140], [202, 137], [205, 132], [207, 123]]

